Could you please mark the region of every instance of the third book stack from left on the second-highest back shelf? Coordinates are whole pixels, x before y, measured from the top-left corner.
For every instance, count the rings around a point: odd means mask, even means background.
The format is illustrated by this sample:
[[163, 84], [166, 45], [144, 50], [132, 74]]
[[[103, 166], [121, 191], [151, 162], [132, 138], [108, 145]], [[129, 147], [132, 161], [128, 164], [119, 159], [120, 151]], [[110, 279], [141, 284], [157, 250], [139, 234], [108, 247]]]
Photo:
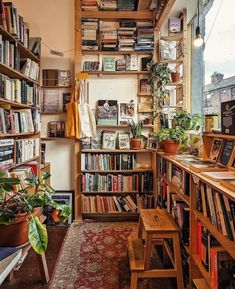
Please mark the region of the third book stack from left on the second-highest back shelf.
[[118, 50], [119, 51], [134, 51], [136, 43], [135, 37], [136, 22], [121, 21], [118, 29]]

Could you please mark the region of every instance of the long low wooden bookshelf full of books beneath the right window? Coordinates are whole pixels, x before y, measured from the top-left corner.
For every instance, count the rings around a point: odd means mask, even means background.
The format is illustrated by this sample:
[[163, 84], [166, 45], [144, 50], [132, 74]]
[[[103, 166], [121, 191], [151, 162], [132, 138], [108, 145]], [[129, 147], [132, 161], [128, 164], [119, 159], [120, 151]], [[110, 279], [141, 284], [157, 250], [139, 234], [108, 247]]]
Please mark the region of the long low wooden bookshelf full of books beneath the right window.
[[[182, 247], [190, 244], [189, 266], [183, 269], [190, 272], [187, 286], [233, 288], [234, 136], [205, 135], [204, 139], [209, 140], [204, 143], [206, 159], [157, 153], [157, 204], [173, 215]], [[203, 287], [200, 284], [204, 284]]]

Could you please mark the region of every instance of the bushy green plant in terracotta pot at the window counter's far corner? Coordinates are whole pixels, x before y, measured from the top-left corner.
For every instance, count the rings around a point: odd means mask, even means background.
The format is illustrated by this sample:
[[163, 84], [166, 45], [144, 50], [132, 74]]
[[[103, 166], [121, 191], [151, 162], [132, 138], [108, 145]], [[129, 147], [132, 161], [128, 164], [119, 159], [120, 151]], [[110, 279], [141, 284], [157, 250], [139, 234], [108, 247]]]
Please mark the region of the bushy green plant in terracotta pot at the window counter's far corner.
[[167, 154], [178, 154], [180, 142], [184, 139], [184, 131], [180, 127], [164, 128], [154, 133], [154, 136], [162, 141]]

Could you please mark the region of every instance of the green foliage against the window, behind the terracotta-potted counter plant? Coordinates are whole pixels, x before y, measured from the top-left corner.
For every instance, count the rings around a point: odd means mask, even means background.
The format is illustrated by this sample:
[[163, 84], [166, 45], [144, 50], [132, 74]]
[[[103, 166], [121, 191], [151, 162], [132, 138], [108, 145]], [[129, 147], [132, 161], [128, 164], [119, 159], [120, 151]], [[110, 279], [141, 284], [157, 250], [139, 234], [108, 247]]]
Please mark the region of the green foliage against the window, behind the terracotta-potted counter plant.
[[191, 115], [187, 111], [181, 110], [176, 112], [176, 124], [184, 130], [196, 130], [201, 127], [202, 117], [199, 114]]

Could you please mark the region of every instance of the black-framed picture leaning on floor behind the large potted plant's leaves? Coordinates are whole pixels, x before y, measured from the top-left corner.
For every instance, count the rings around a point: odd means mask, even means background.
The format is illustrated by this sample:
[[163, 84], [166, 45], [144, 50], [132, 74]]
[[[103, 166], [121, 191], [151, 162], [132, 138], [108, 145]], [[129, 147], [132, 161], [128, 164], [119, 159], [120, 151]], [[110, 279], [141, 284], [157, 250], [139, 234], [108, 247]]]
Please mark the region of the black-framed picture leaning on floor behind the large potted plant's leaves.
[[54, 208], [47, 207], [46, 211], [44, 212], [47, 216], [46, 224], [47, 225], [56, 225], [56, 226], [66, 226], [72, 223], [73, 220], [73, 191], [56, 191], [56, 193], [52, 196], [52, 199], [61, 205], [69, 205], [71, 208], [71, 214], [68, 220], [64, 222], [55, 222], [52, 218], [52, 214], [54, 212]]

